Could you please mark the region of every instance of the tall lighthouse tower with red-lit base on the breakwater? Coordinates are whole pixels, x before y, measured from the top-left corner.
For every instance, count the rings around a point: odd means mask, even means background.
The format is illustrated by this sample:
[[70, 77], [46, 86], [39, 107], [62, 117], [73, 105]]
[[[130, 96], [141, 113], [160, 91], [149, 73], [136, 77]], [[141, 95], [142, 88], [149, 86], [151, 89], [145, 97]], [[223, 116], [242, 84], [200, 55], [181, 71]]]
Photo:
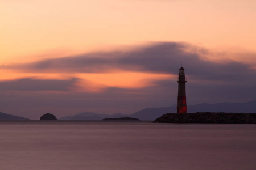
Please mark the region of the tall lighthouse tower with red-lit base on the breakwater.
[[177, 82], [179, 83], [178, 88], [178, 101], [177, 101], [177, 113], [187, 113], [187, 102], [186, 102], [186, 82], [185, 71], [183, 67], [180, 68], [179, 74], [177, 74]]

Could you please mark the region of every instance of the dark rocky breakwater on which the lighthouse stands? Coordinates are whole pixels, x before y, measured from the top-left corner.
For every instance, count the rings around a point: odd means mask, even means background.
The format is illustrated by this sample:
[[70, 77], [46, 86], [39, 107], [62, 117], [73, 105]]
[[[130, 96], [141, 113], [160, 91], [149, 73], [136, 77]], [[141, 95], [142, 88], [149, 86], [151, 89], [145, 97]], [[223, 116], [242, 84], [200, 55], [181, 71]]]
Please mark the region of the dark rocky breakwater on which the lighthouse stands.
[[166, 113], [155, 123], [256, 124], [256, 113]]

